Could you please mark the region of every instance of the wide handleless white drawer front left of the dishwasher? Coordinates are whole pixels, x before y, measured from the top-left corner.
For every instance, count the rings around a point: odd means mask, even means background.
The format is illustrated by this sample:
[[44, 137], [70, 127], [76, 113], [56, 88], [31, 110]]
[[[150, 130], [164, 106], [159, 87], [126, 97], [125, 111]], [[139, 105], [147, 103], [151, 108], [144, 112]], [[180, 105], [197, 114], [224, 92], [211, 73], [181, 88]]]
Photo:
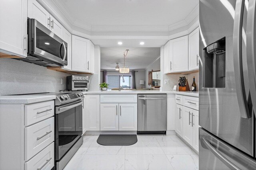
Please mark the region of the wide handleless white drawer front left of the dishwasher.
[[102, 94], [100, 103], [137, 103], [136, 94]]

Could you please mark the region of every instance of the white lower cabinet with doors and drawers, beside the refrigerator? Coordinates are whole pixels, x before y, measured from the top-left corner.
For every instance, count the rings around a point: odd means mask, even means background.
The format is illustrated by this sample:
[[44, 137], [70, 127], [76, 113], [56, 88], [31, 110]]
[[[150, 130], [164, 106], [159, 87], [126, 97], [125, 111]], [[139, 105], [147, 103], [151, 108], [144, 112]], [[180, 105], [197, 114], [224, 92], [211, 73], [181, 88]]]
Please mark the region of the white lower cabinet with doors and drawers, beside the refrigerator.
[[[176, 98], [180, 95], [176, 95]], [[182, 98], [188, 98], [183, 96]], [[198, 98], [189, 97], [196, 101]], [[183, 105], [180, 100], [176, 100], [175, 104], [175, 132], [182, 137], [195, 150], [199, 150], [199, 111], [194, 107], [186, 107], [186, 100], [183, 100]]]

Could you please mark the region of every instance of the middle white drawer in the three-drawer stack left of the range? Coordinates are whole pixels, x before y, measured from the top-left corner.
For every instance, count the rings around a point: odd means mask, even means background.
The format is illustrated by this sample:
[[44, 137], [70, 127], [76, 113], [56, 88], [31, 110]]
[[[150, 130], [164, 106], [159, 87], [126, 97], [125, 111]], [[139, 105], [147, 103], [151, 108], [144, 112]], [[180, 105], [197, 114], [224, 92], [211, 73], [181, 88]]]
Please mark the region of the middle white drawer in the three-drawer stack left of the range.
[[54, 141], [54, 117], [25, 128], [25, 160]]

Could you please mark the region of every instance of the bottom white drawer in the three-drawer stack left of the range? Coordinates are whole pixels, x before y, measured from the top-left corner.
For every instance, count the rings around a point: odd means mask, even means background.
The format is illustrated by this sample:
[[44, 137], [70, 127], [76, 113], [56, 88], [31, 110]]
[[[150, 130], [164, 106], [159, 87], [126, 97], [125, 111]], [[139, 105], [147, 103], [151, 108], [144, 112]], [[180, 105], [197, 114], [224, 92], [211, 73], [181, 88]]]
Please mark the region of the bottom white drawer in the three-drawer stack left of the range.
[[54, 142], [25, 163], [25, 170], [51, 170], [54, 166]]

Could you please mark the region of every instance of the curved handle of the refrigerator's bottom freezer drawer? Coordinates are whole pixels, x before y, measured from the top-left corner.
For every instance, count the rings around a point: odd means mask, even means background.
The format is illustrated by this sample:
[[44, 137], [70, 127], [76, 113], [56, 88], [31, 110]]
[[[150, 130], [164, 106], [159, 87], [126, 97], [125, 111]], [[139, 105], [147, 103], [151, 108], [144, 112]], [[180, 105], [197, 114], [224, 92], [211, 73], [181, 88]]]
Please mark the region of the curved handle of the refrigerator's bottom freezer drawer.
[[206, 138], [203, 137], [202, 141], [204, 142], [204, 144], [206, 145], [206, 147], [219, 159], [221, 160], [221, 162], [223, 162], [226, 166], [228, 166], [228, 168], [232, 169], [232, 170], [240, 170], [240, 168], [238, 168], [236, 165], [234, 165], [232, 162], [230, 162], [227, 158], [225, 158], [225, 156], [223, 156], [222, 154], [220, 154], [220, 152], [218, 152], [218, 150], [216, 150], [210, 143], [210, 141]]

